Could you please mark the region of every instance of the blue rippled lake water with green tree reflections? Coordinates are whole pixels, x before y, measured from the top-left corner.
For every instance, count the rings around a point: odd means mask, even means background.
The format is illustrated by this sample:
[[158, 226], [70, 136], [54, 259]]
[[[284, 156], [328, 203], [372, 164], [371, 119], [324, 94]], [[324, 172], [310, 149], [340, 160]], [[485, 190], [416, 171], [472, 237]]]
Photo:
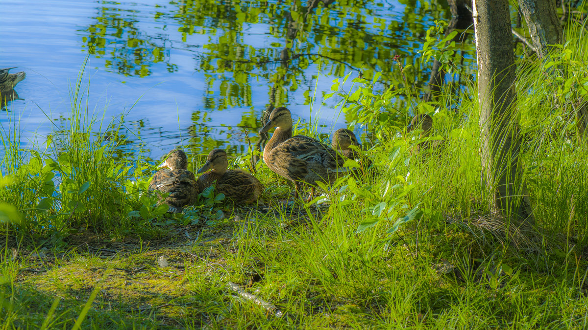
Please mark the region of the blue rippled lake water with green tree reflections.
[[2, 0], [0, 68], [18, 66], [12, 72], [26, 79], [0, 124], [18, 120], [25, 147], [66, 128], [70, 91], [88, 58], [83, 103], [105, 124], [122, 122], [118, 138], [153, 158], [175, 146], [246, 150], [245, 130], [258, 138], [270, 104], [303, 122], [312, 107], [329, 133], [347, 126], [335, 109], [340, 99], [323, 102], [332, 80], [382, 71], [385, 83], [392, 56], [413, 60], [433, 9], [449, 16], [433, 4]]

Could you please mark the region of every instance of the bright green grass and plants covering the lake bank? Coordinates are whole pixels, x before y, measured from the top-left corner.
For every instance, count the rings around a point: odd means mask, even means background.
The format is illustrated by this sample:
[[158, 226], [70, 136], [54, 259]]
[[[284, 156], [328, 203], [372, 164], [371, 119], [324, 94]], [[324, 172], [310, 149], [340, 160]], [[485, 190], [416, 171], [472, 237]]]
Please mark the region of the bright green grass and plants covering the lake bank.
[[[352, 115], [369, 120], [356, 124], [377, 137], [367, 151], [373, 170], [339, 180], [319, 206], [288, 206], [292, 188], [259, 163], [267, 212], [212, 196], [166, 217], [141, 194], [145, 161], [118, 159], [118, 145], [92, 133], [101, 121], [79, 101], [78, 82], [71, 130], [46, 148], [23, 150], [18, 122], [0, 131], [2, 329], [586, 328], [588, 147], [566, 113], [588, 81], [579, 64], [588, 40], [569, 31], [563, 55], [553, 55], [560, 75], [544, 78], [548, 63], [519, 63], [532, 231], [487, 208], [475, 86], [446, 90], [445, 106], [399, 98], [399, 112], [387, 105], [385, 115], [374, 105], [396, 90], [349, 99], [345, 114], [360, 109]], [[411, 104], [436, 111], [440, 154], [413, 154], [419, 141], [396, 134]], [[249, 157], [236, 163], [249, 168]], [[283, 316], [240, 298], [229, 281]]]

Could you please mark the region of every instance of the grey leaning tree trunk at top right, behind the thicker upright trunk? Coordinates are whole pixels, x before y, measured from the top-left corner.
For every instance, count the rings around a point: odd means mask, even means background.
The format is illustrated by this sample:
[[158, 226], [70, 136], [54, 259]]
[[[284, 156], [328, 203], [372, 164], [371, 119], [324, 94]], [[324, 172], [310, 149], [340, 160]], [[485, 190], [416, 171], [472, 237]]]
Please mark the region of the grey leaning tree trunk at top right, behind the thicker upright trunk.
[[547, 55], [549, 45], [563, 43], [563, 29], [557, 18], [555, 0], [519, 0], [519, 6], [539, 58]]

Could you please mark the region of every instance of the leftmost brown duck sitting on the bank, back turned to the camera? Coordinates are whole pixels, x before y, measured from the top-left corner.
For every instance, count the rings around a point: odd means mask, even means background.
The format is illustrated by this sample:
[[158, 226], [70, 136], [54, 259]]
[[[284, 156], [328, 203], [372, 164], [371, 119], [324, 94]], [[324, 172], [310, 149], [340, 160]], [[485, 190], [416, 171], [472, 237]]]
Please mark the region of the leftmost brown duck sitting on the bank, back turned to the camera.
[[188, 170], [188, 157], [182, 149], [170, 151], [158, 167], [162, 169], [153, 175], [148, 190], [169, 194], [164, 201], [169, 212], [179, 213], [196, 203], [200, 191], [194, 173]]

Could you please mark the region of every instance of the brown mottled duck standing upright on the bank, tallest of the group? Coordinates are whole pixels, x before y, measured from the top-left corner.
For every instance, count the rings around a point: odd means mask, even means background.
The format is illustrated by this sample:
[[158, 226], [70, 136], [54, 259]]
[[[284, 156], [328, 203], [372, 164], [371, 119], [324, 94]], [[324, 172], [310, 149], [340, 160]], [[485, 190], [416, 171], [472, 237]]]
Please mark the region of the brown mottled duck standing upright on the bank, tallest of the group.
[[319, 140], [292, 136], [292, 114], [286, 107], [273, 109], [259, 133], [268, 132], [273, 127], [276, 130], [263, 148], [263, 161], [270, 170], [294, 183], [295, 198], [305, 186], [310, 186], [310, 195], [305, 200], [309, 202], [315, 193], [316, 182], [329, 184], [355, 170], [343, 167], [345, 157]]

